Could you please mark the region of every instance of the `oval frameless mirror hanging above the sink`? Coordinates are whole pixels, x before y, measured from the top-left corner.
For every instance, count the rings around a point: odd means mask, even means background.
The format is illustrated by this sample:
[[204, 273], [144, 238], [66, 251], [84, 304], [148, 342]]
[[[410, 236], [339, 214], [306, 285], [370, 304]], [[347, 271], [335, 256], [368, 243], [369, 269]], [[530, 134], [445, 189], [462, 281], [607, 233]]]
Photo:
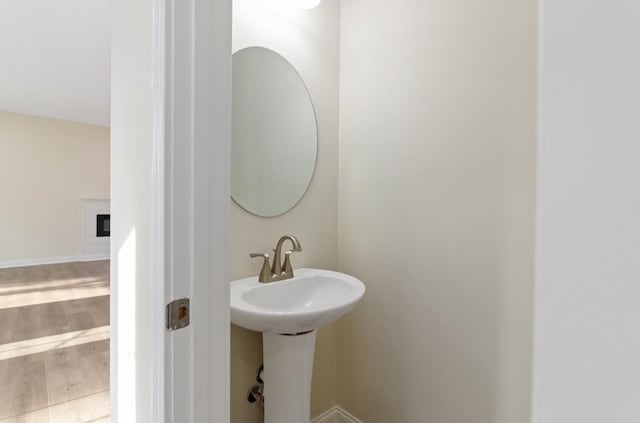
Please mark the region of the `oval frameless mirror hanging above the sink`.
[[291, 210], [316, 165], [318, 130], [307, 87], [278, 53], [249, 47], [233, 55], [231, 197], [263, 217]]

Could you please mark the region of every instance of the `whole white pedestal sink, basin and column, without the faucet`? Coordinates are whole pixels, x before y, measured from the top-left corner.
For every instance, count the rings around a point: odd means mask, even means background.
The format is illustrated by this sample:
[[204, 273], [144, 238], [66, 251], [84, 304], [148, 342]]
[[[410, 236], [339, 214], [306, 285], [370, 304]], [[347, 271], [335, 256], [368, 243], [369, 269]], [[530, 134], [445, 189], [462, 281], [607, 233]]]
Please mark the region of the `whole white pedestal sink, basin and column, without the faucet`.
[[297, 269], [295, 277], [231, 283], [231, 321], [262, 332], [265, 423], [309, 423], [316, 329], [353, 310], [364, 295], [344, 273]]

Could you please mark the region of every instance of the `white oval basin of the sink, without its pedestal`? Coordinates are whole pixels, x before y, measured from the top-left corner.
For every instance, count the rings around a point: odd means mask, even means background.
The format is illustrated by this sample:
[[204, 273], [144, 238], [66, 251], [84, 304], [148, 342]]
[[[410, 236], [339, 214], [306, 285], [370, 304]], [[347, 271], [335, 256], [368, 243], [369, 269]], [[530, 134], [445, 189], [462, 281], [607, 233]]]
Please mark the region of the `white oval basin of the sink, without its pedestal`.
[[365, 292], [362, 282], [344, 273], [296, 269], [294, 275], [270, 283], [256, 276], [233, 281], [231, 321], [257, 332], [308, 332], [350, 312]]

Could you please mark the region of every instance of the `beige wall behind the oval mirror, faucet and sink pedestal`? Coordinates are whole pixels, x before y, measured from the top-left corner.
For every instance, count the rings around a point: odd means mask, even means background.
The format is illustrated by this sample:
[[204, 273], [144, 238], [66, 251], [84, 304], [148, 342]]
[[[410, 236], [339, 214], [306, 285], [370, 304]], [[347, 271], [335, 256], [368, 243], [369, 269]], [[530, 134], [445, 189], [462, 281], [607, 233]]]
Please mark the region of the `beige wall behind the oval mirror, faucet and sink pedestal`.
[[[278, 238], [291, 233], [303, 251], [293, 257], [295, 267], [335, 269], [337, 264], [338, 190], [338, 71], [339, 2], [325, 0], [309, 11], [285, 6], [286, 2], [234, 1], [234, 51], [263, 46], [283, 55], [300, 72], [316, 110], [319, 154], [316, 173], [304, 199], [289, 213], [260, 218], [235, 203], [230, 216], [230, 272], [237, 279], [256, 275], [258, 261], [249, 253], [269, 252]], [[318, 333], [316, 371], [313, 375], [312, 414], [336, 403], [337, 329]], [[259, 407], [246, 401], [262, 362], [258, 333], [233, 326], [231, 331], [231, 421], [262, 421]]]

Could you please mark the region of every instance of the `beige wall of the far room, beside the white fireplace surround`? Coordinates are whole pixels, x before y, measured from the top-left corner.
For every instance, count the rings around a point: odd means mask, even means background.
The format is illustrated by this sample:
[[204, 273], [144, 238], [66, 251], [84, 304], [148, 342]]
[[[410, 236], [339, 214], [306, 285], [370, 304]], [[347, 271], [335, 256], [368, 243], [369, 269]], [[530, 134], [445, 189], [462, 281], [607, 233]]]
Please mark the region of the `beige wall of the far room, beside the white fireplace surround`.
[[0, 266], [81, 256], [83, 198], [109, 198], [109, 128], [0, 112]]

